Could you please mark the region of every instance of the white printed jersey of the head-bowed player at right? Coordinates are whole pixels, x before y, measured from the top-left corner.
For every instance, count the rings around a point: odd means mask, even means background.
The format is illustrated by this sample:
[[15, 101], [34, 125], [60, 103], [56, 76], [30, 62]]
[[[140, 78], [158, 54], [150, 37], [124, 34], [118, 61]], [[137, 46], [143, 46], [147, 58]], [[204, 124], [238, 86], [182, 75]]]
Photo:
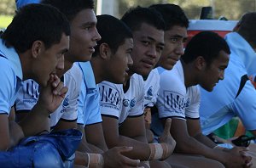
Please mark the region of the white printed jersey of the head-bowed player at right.
[[200, 90], [198, 86], [185, 87], [183, 65], [180, 61], [172, 70], [160, 73], [160, 91], [156, 105], [159, 116], [153, 115], [151, 126], [156, 135], [163, 131], [159, 118], [199, 119]]

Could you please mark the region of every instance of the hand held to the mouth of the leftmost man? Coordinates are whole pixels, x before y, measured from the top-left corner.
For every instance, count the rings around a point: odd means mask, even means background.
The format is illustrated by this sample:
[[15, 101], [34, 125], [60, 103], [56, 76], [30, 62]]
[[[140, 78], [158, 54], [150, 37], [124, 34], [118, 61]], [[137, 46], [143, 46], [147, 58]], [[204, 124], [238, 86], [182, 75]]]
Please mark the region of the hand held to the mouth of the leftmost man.
[[51, 114], [60, 106], [67, 90], [60, 78], [51, 74], [47, 86], [41, 88], [38, 104]]

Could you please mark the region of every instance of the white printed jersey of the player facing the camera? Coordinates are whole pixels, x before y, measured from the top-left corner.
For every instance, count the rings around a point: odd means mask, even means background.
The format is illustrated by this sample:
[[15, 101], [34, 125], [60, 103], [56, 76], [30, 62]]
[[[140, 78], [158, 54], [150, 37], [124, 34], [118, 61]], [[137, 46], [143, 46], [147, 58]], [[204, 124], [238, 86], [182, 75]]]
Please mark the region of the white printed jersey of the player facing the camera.
[[122, 84], [102, 81], [99, 84], [102, 115], [110, 115], [117, 118], [119, 124], [124, 122], [128, 116], [143, 115], [143, 82], [142, 76], [131, 76], [129, 89], [124, 92]]

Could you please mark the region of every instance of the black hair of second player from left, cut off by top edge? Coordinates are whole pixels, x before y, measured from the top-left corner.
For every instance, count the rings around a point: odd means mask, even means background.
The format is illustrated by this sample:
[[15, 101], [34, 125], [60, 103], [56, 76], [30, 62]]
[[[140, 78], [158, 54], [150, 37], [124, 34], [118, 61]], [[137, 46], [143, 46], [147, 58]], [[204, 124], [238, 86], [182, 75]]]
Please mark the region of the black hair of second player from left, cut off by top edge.
[[49, 4], [58, 8], [66, 15], [70, 22], [84, 9], [94, 8], [93, 0], [42, 0], [41, 3]]

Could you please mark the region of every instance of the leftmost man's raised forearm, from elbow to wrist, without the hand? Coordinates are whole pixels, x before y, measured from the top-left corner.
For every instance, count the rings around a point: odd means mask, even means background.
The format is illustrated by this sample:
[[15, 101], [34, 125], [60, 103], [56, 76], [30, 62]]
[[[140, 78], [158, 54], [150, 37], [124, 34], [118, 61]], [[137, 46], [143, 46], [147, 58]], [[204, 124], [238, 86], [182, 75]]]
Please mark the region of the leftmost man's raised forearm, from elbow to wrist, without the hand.
[[19, 125], [25, 137], [37, 135], [45, 130], [49, 131], [49, 112], [40, 104], [36, 104]]

